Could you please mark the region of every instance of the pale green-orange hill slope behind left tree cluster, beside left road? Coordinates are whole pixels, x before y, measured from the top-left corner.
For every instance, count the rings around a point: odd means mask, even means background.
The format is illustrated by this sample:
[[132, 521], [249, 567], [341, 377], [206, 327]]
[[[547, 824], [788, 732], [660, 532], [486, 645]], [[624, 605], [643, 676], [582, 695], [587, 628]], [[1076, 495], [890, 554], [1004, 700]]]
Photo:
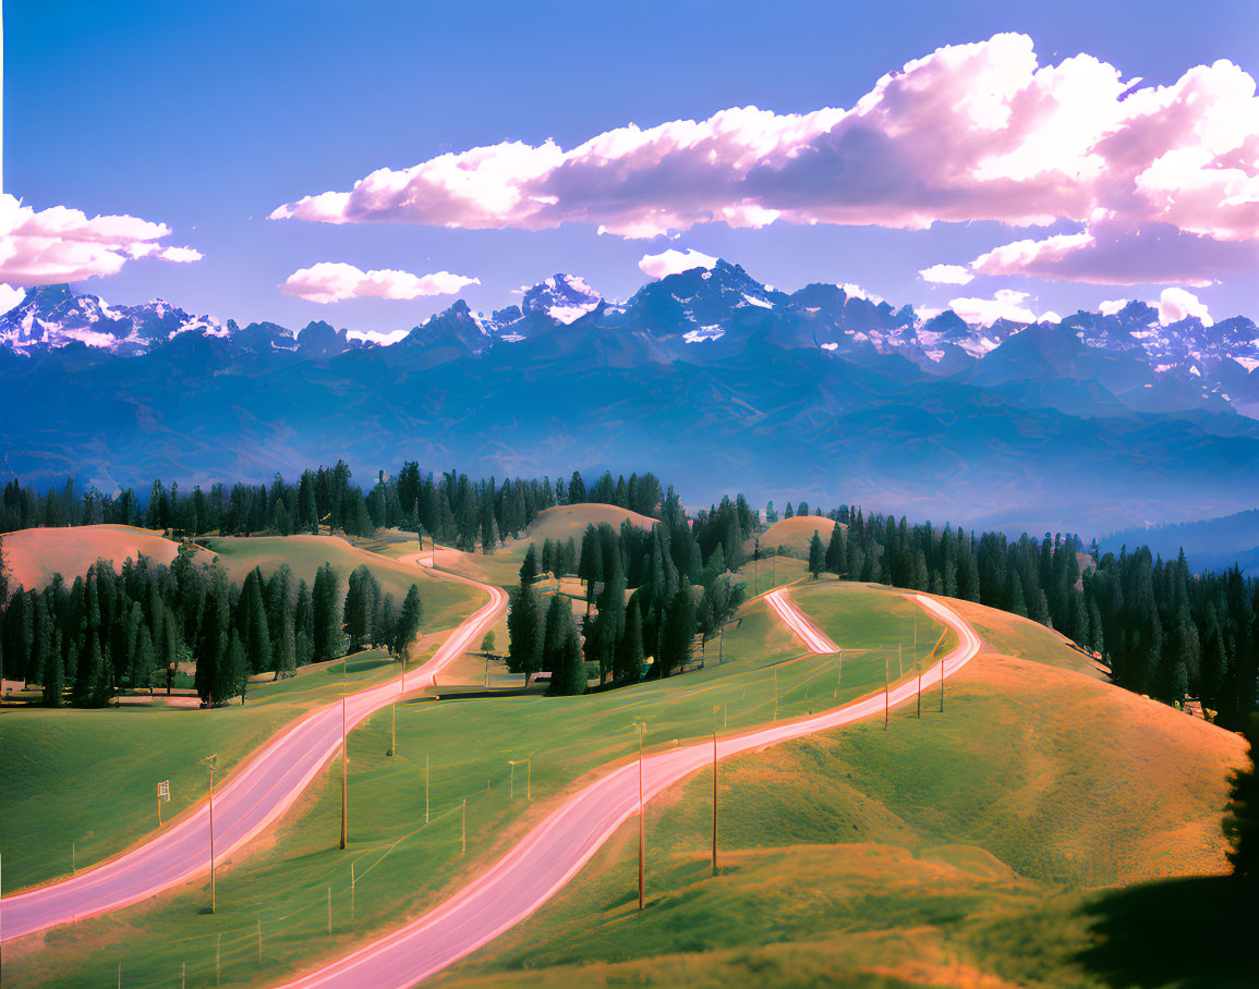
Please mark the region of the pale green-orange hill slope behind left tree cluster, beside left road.
[[336, 536], [254, 536], [251, 539], [224, 537], [204, 540], [219, 556], [228, 575], [237, 583], [244, 581], [253, 567], [262, 567], [269, 576], [281, 564], [288, 564], [293, 576], [307, 585], [315, 583], [315, 571], [325, 562], [332, 564], [345, 593], [350, 573], [366, 564], [380, 588], [393, 594], [402, 605], [412, 584], [419, 585], [424, 600], [424, 628], [451, 628], [471, 614], [483, 600], [482, 593], [466, 584], [442, 580], [422, 569], [404, 566], [393, 560], [351, 546]]

